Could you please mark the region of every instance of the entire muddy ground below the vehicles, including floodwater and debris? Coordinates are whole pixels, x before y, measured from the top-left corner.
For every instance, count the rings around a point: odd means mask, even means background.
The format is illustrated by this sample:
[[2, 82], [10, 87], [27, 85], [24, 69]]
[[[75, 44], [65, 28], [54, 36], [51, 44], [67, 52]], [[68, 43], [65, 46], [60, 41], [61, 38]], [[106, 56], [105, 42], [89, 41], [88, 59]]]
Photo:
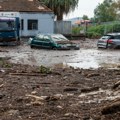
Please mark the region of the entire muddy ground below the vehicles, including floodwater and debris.
[[119, 50], [98, 50], [96, 40], [80, 45], [0, 47], [0, 120], [119, 120]]

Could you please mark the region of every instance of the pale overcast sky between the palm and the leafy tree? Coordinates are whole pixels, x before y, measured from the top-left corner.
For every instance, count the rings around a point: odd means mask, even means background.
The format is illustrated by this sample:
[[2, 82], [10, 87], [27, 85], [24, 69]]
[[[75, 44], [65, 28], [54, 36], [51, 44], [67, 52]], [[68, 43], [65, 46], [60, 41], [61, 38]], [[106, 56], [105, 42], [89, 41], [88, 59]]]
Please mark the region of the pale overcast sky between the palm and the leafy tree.
[[64, 16], [64, 19], [82, 17], [87, 15], [89, 18], [94, 16], [94, 9], [99, 3], [102, 3], [104, 0], [79, 0], [78, 7], [74, 12], [69, 13], [67, 16]]

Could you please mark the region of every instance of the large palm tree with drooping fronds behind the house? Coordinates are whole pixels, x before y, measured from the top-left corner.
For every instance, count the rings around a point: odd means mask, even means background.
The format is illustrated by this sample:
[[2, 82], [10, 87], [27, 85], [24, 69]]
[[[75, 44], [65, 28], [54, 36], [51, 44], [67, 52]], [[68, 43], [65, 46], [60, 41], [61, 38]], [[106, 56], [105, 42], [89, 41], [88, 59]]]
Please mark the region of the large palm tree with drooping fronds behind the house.
[[79, 0], [40, 0], [48, 8], [54, 11], [57, 20], [63, 20], [63, 15], [73, 11]]

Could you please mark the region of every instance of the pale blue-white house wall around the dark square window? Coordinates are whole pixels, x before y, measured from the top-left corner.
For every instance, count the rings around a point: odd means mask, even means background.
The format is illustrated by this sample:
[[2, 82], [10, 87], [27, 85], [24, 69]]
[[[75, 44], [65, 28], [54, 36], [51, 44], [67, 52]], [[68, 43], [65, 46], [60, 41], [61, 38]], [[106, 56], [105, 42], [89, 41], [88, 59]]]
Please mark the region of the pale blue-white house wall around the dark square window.
[[[24, 29], [21, 36], [34, 36], [37, 33], [53, 33], [54, 32], [54, 14], [53, 13], [20, 13], [21, 19], [24, 20]], [[28, 19], [38, 20], [38, 30], [28, 30]]]

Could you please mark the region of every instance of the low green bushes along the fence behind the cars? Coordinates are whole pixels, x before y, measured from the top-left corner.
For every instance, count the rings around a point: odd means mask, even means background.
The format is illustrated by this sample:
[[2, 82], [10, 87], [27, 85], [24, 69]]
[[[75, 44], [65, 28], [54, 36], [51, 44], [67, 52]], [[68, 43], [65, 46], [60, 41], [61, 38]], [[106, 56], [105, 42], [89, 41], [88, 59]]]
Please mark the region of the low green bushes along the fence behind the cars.
[[[80, 34], [80, 31], [84, 30], [85, 27], [73, 27], [72, 28], [72, 34], [77, 35]], [[95, 26], [88, 26], [87, 28], [87, 37], [88, 38], [99, 38], [103, 36], [106, 33], [112, 33], [112, 32], [120, 32], [120, 24], [112, 22], [112, 23], [104, 23], [101, 25], [95, 25]]]

